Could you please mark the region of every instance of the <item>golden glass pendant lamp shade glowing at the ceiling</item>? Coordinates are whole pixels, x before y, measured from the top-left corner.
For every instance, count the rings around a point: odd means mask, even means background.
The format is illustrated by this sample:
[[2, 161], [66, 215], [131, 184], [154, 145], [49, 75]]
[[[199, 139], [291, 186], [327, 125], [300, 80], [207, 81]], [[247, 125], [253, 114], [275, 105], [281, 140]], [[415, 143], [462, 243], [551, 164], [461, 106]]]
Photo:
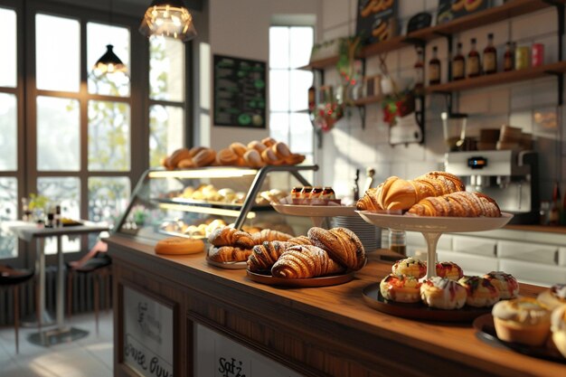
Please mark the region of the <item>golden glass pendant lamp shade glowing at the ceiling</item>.
[[182, 0], [154, 0], [146, 10], [139, 32], [146, 37], [166, 36], [183, 42], [196, 36], [193, 15]]

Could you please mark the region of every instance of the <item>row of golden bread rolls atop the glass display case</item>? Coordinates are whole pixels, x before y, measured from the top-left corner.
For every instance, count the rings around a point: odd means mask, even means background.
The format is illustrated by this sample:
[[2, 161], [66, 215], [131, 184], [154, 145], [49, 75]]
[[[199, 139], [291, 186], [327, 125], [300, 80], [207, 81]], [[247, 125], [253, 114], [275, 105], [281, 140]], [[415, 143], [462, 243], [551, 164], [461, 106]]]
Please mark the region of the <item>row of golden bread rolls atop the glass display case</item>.
[[250, 141], [247, 145], [231, 143], [216, 152], [212, 148], [194, 146], [180, 148], [162, 161], [166, 169], [191, 168], [203, 166], [248, 166], [253, 168], [265, 165], [297, 165], [305, 161], [305, 156], [292, 153], [287, 144], [272, 137]]

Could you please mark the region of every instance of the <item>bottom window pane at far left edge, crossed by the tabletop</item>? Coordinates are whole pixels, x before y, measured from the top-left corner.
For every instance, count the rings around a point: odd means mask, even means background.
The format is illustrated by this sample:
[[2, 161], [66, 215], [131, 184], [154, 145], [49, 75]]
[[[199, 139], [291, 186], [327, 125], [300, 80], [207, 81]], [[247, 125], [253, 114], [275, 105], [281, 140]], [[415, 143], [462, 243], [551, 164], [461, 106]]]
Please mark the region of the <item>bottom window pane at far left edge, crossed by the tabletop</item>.
[[[0, 178], [0, 221], [17, 219], [18, 187], [15, 178]], [[0, 227], [0, 259], [18, 256], [18, 241], [12, 232]]]

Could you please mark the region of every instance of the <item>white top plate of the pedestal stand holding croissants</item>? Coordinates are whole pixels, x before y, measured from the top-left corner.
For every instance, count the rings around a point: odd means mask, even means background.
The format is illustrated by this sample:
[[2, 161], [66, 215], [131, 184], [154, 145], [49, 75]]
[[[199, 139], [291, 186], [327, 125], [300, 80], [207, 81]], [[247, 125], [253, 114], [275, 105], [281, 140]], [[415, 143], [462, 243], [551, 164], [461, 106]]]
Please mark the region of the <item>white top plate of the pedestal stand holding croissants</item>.
[[501, 217], [429, 217], [356, 211], [363, 220], [383, 228], [403, 231], [459, 232], [491, 231], [503, 227], [513, 214], [501, 213]]

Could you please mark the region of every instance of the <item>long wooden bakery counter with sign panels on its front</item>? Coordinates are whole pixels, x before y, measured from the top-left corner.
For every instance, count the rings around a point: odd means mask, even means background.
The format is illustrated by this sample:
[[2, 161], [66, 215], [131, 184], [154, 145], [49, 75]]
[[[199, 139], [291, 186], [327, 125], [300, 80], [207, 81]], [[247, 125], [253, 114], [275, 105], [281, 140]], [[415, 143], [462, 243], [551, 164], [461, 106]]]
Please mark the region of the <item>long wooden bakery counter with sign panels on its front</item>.
[[[470, 324], [420, 322], [367, 306], [363, 287], [391, 270], [379, 253], [348, 283], [289, 288], [212, 267], [203, 254], [157, 256], [153, 245], [119, 235], [108, 245], [115, 376], [566, 375], [566, 364], [483, 343]], [[541, 289], [521, 287], [525, 296]], [[137, 334], [155, 345], [137, 342]]]

